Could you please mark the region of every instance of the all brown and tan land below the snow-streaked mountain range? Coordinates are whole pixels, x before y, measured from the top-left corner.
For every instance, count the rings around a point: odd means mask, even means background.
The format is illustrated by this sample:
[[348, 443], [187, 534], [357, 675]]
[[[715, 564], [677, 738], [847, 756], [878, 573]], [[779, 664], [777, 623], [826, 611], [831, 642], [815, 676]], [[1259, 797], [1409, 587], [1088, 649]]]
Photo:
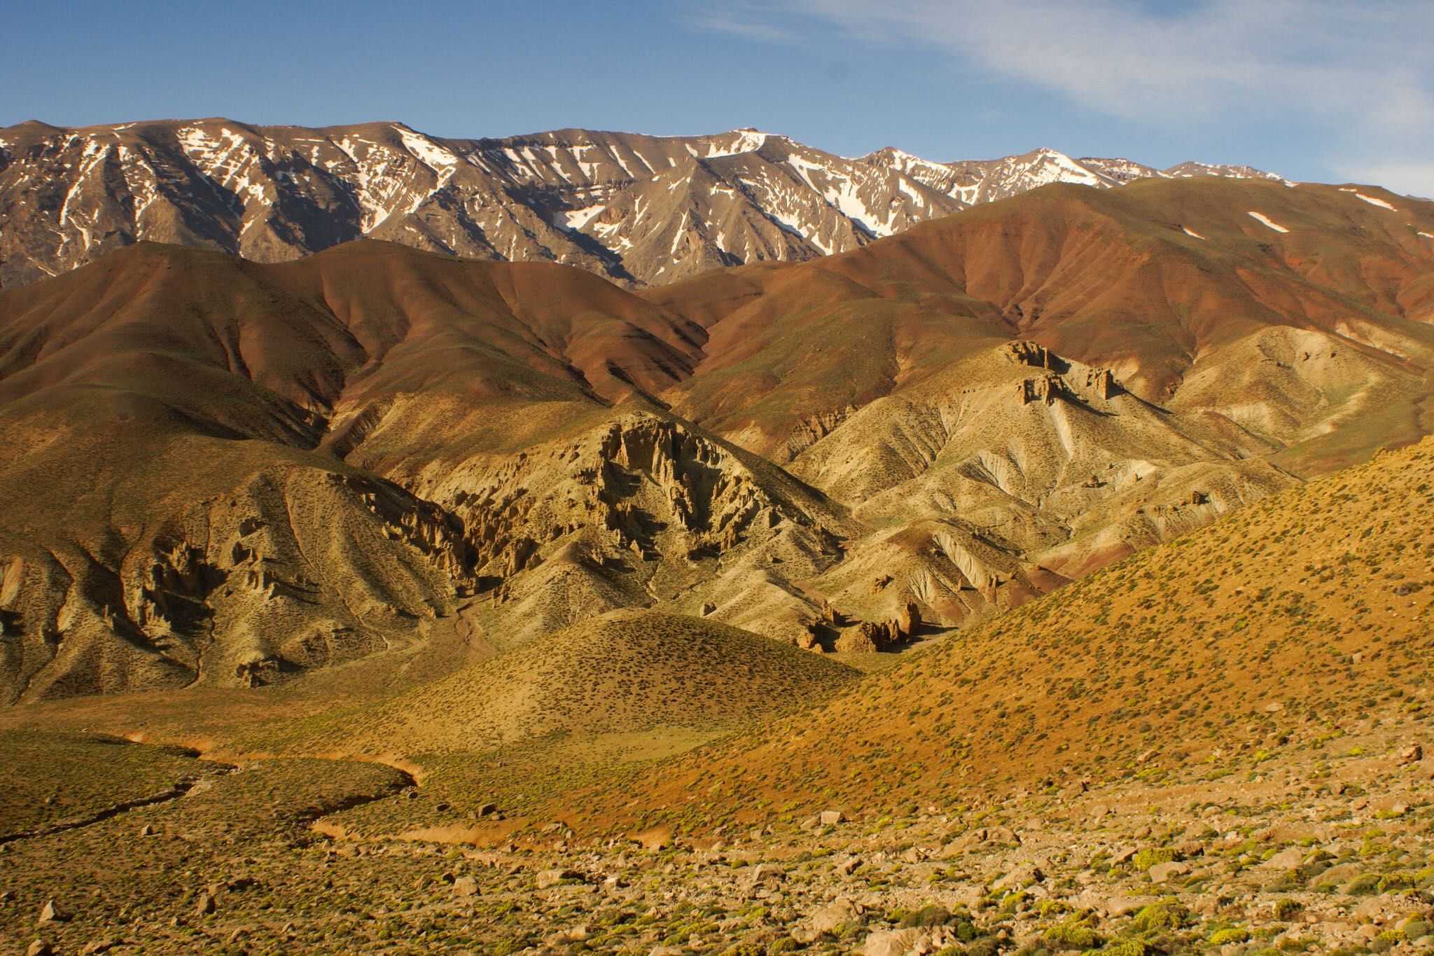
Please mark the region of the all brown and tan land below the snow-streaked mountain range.
[[1434, 947], [1434, 204], [0, 291], [13, 952]]

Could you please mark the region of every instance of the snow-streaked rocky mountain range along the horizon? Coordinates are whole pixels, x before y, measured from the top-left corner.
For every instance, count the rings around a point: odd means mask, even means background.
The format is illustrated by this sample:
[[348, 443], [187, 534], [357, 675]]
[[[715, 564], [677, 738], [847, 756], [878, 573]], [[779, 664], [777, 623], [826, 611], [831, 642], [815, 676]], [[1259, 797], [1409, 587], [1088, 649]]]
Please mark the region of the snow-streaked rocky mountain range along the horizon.
[[439, 139], [402, 123], [29, 122], [0, 129], [0, 285], [138, 241], [275, 262], [361, 236], [663, 284], [723, 265], [845, 252], [1051, 182], [1146, 176], [1271, 173], [1202, 163], [1159, 171], [1051, 149], [955, 163], [895, 149], [845, 159], [750, 129]]

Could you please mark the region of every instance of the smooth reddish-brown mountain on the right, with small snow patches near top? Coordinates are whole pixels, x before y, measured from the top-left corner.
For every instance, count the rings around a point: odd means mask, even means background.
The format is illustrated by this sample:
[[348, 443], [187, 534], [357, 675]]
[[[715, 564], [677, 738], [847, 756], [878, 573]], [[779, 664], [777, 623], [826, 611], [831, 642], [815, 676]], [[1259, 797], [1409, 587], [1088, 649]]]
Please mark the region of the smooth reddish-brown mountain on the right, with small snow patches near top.
[[1202, 357], [1265, 327], [1322, 330], [1423, 374], [1428, 235], [1434, 204], [1372, 188], [1054, 185], [846, 255], [644, 295], [711, 335], [700, 374], [670, 394], [675, 407], [777, 447], [792, 427], [782, 410], [842, 414], [1001, 338], [1111, 367], [1157, 403]]

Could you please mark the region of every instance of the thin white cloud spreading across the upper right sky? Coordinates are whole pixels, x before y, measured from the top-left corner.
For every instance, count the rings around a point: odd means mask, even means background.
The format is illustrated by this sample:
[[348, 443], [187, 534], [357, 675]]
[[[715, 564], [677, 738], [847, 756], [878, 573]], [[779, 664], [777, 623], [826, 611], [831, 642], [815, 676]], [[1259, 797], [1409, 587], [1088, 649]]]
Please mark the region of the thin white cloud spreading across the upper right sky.
[[723, 13], [731, 30], [790, 33], [794, 20], [946, 52], [1154, 130], [1269, 118], [1326, 130], [1332, 168], [1434, 155], [1428, 0], [1193, 0], [1174, 11], [1139, 0], [736, 0]]

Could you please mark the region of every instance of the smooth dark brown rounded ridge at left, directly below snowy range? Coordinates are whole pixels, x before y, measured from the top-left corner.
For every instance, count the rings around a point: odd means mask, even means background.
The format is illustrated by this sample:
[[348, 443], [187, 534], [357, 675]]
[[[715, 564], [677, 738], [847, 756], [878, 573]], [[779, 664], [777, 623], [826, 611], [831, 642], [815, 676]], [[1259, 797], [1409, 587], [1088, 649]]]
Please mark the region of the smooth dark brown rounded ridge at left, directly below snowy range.
[[317, 410], [361, 378], [370, 394], [442, 384], [615, 400], [687, 377], [701, 338], [695, 325], [556, 265], [467, 262], [373, 241], [258, 265], [141, 244], [0, 297], [0, 396], [80, 383], [163, 388], [149, 373], [182, 363]]

